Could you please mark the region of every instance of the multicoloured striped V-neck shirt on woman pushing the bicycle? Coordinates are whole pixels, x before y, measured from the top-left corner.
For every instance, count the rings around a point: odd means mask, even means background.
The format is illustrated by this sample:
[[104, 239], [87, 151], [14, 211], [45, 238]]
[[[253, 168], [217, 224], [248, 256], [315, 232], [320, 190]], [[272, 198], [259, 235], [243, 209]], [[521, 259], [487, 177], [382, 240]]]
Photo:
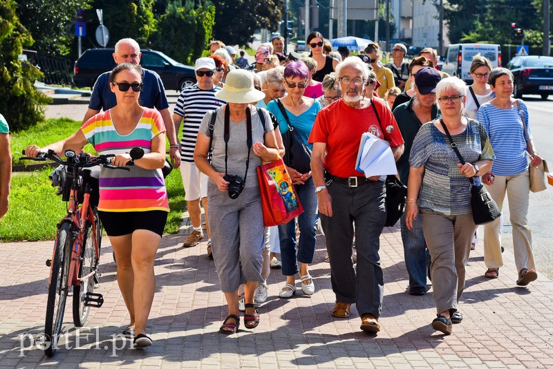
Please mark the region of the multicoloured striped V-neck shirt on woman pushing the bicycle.
[[[149, 153], [152, 138], [165, 133], [165, 126], [158, 111], [144, 108], [135, 129], [128, 135], [120, 135], [113, 126], [111, 110], [108, 110], [87, 120], [81, 131], [100, 154], [128, 153], [137, 146]], [[138, 165], [129, 168], [130, 171], [123, 171], [102, 167], [98, 210], [169, 211], [161, 169], [143, 169]]]

